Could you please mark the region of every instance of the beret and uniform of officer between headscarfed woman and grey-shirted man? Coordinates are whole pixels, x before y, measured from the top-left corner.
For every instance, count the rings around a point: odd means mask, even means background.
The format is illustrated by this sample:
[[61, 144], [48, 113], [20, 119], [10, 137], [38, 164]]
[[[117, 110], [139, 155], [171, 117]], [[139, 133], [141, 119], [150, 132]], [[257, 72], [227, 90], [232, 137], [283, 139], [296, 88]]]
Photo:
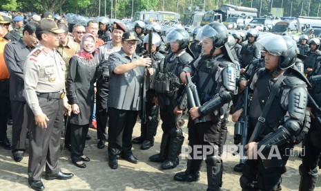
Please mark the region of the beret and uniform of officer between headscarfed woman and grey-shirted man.
[[[123, 24], [115, 22], [113, 28], [126, 31]], [[97, 93], [96, 93], [96, 120], [97, 120], [97, 139], [99, 143], [97, 147], [102, 149], [105, 147], [105, 134], [106, 125], [108, 121], [108, 82], [109, 82], [109, 69], [108, 57], [110, 54], [121, 50], [121, 46], [115, 47], [113, 41], [106, 42], [106, 44], [99, 46], [99, 72], [97, 75]]]

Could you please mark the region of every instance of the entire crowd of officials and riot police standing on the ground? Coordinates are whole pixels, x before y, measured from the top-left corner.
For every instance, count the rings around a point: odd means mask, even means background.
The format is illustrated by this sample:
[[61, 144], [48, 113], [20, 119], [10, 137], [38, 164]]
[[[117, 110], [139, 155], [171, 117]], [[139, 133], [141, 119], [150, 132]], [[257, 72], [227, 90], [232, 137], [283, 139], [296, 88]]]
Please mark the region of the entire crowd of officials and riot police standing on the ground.
[[[58, 165], [61, 134], [71, 162], [86, 168], [90, 127], [97, 129], [97, 148], [108, 145], [109, 167], [117, 169], [119, 157], [139, 163], [133, 144], [153, 147], [162, 122], [159, 153], [149, 160], [173, 169], [186, 139], [186, 114], [188, 145], [209, 146], [213, 153], [192, 150], [186, 170], [174, 179], [198, 181], [204, 159], [207, 190], [220, 190], [230, 113], [233, 122], [249, 119], [246, 144], [240, 145], [249, 158], [234, 168], [242, 172], [243, 190], [280, 190], [287, 152], [302, 140], [299, 190], [314, 189], [321, 51], [313, 30], [275, 35], [211, 23], [187, 31], [177, 23], [165, 31], [157, 22], [75, 20], [50, 12], [0, 14], [0, 145], [20, 162], [28, 138], [32, 189], [44, 189], [44, 167], [47, 180], [72, 178]], [[138, 116], [141, 136], [132, 140]], [[251, 158], [261, 147], [267, 157], [273, 146], [280, 157]]]

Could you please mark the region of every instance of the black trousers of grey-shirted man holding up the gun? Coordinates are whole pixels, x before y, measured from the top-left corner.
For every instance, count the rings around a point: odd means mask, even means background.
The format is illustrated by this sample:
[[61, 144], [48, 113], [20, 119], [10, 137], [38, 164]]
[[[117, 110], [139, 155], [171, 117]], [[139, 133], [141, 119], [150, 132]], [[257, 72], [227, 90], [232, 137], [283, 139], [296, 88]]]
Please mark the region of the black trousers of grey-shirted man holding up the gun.
[[128, 111], [108, 107], [108, 154], [116, 156], [132, 153], [132, 135], [139, 111]]

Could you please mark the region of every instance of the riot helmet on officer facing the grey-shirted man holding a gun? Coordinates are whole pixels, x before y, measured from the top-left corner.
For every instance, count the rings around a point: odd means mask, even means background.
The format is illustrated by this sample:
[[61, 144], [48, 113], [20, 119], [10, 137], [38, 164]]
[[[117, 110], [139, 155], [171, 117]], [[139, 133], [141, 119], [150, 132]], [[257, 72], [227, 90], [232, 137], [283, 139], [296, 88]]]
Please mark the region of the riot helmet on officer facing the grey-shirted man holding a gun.
[[169, 44], [171, 42], [178, 42], [179, 49], [183, 50], [188, 47], [189, 34], [184, 29], [176, 28], [166, 35], [165, 43]]

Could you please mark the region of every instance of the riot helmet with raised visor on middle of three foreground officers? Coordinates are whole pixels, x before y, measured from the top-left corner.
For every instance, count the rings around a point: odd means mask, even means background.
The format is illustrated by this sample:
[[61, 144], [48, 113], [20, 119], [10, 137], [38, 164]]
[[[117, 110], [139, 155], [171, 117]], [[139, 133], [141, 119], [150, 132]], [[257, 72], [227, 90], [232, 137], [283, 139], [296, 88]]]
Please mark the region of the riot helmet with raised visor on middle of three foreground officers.
[[211, 53], [214, 53], [215, 48], [222, 48], [228, 39], [228, 30], [226, 26], [220, 23], [211, 23], [203, 26], [198, 33], [196, 39], [202, 41], [203, 39], [213, 39], [213, 49]]

